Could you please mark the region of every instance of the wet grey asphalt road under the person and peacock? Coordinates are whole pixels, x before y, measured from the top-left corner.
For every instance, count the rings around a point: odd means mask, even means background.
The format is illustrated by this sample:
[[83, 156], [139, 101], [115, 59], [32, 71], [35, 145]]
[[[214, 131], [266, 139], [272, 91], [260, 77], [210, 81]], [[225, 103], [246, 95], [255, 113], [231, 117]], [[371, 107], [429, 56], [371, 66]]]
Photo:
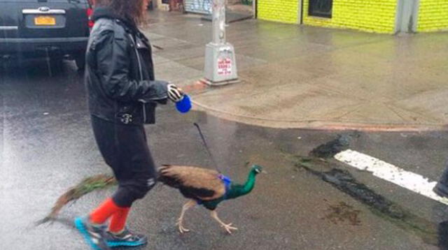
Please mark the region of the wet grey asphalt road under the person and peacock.
[[[113, 192], [91, 193], [65, 207], [55, 223], [34, 226], [69, 186], [109, 172], [93, 140], [82, 74], [68, 61], [52, 66], [51, 73], [42, 60], [1, 63], [0, 249], [88, 249], [72, 221]], [[157, 125], [146, 127], [157, 163], [212, 168], [193, 122], [202, 126], [219, 167], [235, 182], [244, 182], [248, 162], [268, 174], [258, 176], [248, 196], [218, 207], [221, 219], [239, 228], [234, 235], [224, 233], [202, 207], [187, 212], [185, 226], [192, 232], [179, 235], [174, 224], [184, 199], [157, 186], [130, 215], [130, 228], [149, 237], [139, 249], [447, 249], [295, 168], [292, 156], [307, 155], [340, 131], [261, 128], [202, 112], [179, 115], [167, 105], [159, 108]], [[444, 168], [447, 147], [447, 132], [359, 133], [350, 145], [433, 180]], [[436, 226], [448, 220], [445, 205], [334, 164]], [[444, 242], [446, 232], [438, 233], [435, 240]]]

